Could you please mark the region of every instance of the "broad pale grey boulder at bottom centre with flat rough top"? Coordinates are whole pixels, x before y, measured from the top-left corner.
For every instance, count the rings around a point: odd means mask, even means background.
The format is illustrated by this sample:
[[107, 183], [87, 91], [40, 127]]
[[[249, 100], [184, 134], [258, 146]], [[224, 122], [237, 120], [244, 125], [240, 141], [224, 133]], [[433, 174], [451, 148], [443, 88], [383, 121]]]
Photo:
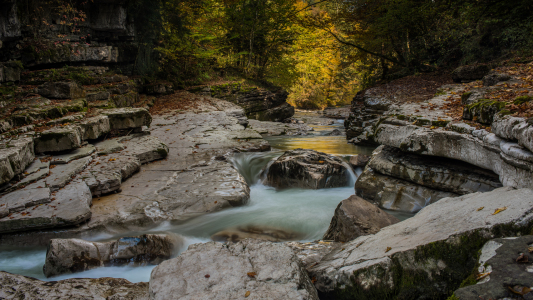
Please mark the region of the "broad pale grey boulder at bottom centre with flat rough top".
[[157, 266], [150, 299], [316, 299], [302, 263], [283, 244], [194, 244]]

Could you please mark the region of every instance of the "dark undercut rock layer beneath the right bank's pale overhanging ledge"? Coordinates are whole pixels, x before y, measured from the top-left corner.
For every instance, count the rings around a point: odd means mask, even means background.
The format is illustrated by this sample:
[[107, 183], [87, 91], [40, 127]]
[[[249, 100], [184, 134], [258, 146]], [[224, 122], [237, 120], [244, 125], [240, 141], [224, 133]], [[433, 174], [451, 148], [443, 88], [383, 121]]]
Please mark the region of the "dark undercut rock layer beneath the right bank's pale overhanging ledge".
[[460, 195], [488, 192], [502, 186], [498, 175], [491, 171], [457, 160], [404, 153], [386, 146], [374, 151], [368, 166], [384, 175]]

